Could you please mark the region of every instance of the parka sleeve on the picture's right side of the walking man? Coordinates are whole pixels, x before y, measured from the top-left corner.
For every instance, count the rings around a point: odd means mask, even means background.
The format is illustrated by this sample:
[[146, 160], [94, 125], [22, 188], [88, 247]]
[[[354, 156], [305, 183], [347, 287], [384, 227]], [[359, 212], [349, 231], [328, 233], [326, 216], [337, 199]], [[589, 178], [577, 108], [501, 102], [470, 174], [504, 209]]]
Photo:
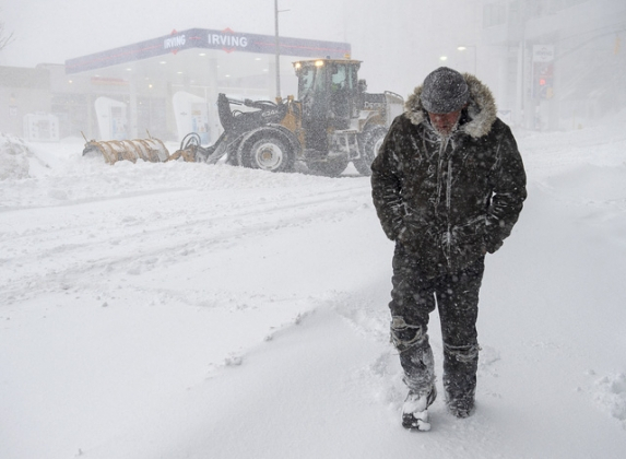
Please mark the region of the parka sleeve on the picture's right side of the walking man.
[[517, 142], [509, 127], [501, 125], [504, 133], [488, 178], [493, 196], [487, 208], [485, 244], [489, 254], [511, 234], [527, 198], [525, 172]]

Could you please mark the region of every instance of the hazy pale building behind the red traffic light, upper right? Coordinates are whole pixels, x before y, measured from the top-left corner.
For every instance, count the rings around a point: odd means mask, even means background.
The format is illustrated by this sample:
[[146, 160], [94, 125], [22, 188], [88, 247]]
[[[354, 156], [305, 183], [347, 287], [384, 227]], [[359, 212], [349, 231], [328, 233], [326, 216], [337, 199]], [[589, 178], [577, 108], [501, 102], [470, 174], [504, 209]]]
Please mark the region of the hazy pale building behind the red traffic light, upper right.
[[479, 47], [515, 125], [578, 129], [626, 107], [626, 1], [481, 3]]

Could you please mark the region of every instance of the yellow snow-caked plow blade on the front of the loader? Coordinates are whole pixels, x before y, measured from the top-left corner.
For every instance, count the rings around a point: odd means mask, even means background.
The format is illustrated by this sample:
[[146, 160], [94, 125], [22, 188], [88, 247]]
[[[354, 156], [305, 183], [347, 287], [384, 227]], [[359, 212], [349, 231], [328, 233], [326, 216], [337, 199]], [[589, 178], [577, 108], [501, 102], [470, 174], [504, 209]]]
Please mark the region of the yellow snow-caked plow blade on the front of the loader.
[[133, 163], [137, 160], [164, 163], [169, 158], [167, 148], [158, 139], [110, 140], [107, 142], [92, 140], [85, 144], [83, 156], [93, 154], [102, 155], [108, 164], [125, 160]]

